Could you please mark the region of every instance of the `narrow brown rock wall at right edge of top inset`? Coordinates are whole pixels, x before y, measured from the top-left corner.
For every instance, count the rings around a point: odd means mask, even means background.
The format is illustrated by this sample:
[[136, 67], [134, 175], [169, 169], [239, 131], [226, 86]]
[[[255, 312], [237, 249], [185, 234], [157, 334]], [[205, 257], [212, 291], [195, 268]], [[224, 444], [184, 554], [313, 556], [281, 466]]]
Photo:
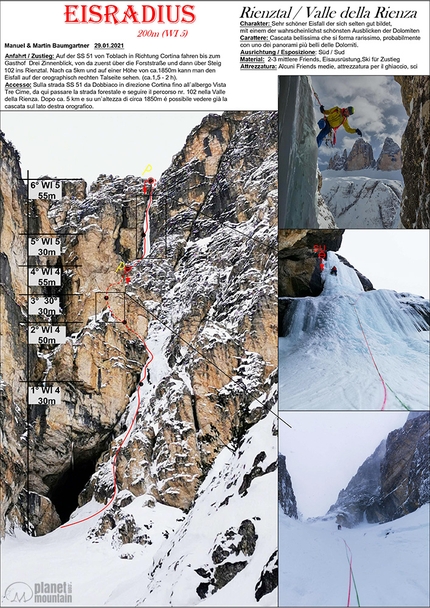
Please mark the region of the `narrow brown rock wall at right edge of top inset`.
[[400, 219], [405, 228], [430, 227], [430, 77], [395, 76], [409, 116], [402, 137], [405, 181]]

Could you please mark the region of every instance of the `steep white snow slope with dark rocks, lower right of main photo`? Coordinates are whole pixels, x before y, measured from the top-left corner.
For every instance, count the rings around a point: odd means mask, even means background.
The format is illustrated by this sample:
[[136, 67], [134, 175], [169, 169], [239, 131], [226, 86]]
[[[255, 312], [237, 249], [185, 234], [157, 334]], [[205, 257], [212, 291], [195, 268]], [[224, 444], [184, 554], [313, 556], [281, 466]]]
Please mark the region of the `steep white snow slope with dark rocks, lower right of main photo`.
[[[277, 441], [271, 429], [273, 415], [255, 425], [247, 434], [238, 451], [224, 449], [207, 476], [190, 513], [180, 529], [154, 555], [156, 567], [151, 573], [149, 594], [142, 596], [143, 606], [252, 606], [256, 604], [255, 589], [264, 566], [276, 550], [277, 505], [274, 500], [262, 500], [263, 496], [276, 495], [277, 475], [273, 466], [277, 460]], [[268, 437], [272, 437], [268, 443]], [[243, 473], [252, 468], [258, 454], [265, 454], [260, 465], [263, 470], [271, 468], [273, 474], [263, 474], [252, 481], [243, 493], [238, 491]], [[228, 497], [228, 499], [227, 499]], [[199, 601], [196, 588], [207, 582], [197, 570], [213, 569], [211, 554], [216, 546], [224, 549], [237, 542], [229, 530], [238, 529], [247, 518], [252, 521], [257, 534], [255, 551], [248, 565], [234, 579], [218, 591]], [[227, 533], [220, 533], [221, 530]], [[226, 541], [226, 542], [225, 542]], [[229, 563], [241, 562], [244, 554], [233, 552], [226, 558]], [[124, 586], [123, 586], [124, 587]], [[132, 597], [123, 589], [112, 595], [109, 604], [130, 605]], [[264, 595], [258, 605], [274, 606], [277, 589]]]

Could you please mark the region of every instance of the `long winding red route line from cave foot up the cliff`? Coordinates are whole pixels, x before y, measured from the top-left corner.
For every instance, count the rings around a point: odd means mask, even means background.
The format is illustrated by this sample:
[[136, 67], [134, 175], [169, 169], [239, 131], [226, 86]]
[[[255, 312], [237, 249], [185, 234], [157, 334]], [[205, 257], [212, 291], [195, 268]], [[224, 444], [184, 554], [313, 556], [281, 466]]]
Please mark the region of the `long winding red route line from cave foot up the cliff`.
[[152, 203], [152, 191], [153, 191], [153, 184], [150, 185], [150, 193], [149, 193], [149, 201], [148, 201], [148, 206], [146, 208], [146, 212], [145, 212], [145, 224], [144, 224], [144, 237], [143, 237], [143, 253], [142, 256], [138, 259], [135, 260], [133, 263], [131, 264], [126, 264], [125, 268], [127, 268], [127, 271], [124, 271], [123, 276], [121, 277], [121, 279], [119, 281], [117, 281], [116, 283], [111, 283], [108, 288], [106, 289], [106, 295], [105, 295], [105, 300], [106, 300], [106, 306], [110, 312], [110, 314], [112, 315], [112, 317], [114, 319], [116, 319], [117, 321], [119, 321], [120, 323], [122, 323], [123, 325], [125, 325], [125, 327], [127, 328], [127, 330], [134, 334], [137, 338], [139, 338], [139, 340], [142, 342], [142, 344], [145, 347], [145, 350], [148, 352], [149, 354], [149, 358], [146, 361], [144, 367], [143, 367], [143, 374], [141, 376], [141, 379], [139, 381], [139, 384], [137, 386], [137, 406], [136, 406], [136, 410], [134, 412], [134, 416], [133, 419], [130, 423], [130, 426], [128, 427], [128, 430], [125, 434], [125, 436], [123, 437], [121, 443], [119, 444], [114, 457], [112, 459], [112, 476], [113, 476], [113, 496], [111, 497], [111, 499], [109, 500], [109, 502], [104, 505], [104, 507], [102, 507], [99, 511], [97, 511], [96, 513], [93, 513], [92, 515], [89, 515], [88, 517], [84, 517], [83, 519], [79, 519], [78, 521], [73, 521], [73, 522], [69, 522], [67, 524], [63, 524], [62, 526], [60, 526], [61, 528], [69, 528], [70, 526], [76, 526], [76, 524], [81, 524], [84, 521], [88, 521], [89, 519], [92, 519], [93, 517], [96, 517], [96, 515], [99, 515], [100, 513], [102, 513], [103, 511], [105, 511], [111, 504], [112, 502], [115, 500], [116, 495], [118, 493], [118, 488], [117, 488], [117, 483], [116, 483], [116, 462], [117, 462], [117, 458], [118, 458], [118, 454], [122, 448], [122, 446], [124, 445], [125, 441], [127, 440], [128, 436], [131, 433], [131, 430], [134, 426], [134, 423], [136, 422], [136, 418], [137, 418], [137, 414], [139, 413], [140, 410], [140, 387], [143, 385], [143, 380], [146, 379], [146, 372], [147, 369], [149, 367], [149, 365], [152, 363], [153, 359], [154, 359], [154, 355], [153, 353], [149, 350], [145, 340], [142, 338], [142, 336], [140, 336], [136, 331], [134, 331], [134, 329], [132, 329], [126, 322], [125, 319], [120, 319], [112, 310], [111, 305], [109, 304], [109, 291], [112, 287], [115, 287], [117, 285], [121, 285], [122, 283], [125, 282], [125, 278], [126, 275], [130, 272], [130, 270], [132, 268], [134, 268], [135, 266], [137, 266], [137, 264], [139, 264], [139, 262], [141, 262], [144, 257], [146, 256], [146, 236], [148, 233], [148, 229], [149, 229], [149, 209], [151, 207], [151, 203]]

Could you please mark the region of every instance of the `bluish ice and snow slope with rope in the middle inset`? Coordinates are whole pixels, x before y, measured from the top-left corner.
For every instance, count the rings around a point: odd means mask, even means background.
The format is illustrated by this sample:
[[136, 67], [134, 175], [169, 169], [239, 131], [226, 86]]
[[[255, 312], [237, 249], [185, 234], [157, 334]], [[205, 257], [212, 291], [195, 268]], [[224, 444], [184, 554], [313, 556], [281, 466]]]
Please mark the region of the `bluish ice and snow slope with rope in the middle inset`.
[[320, 296], [297, 298], [288, 311], [280, 409], [428, 409], [428, 332], [417, 331], [418, 313], [396, 292], [364, 292], [334, 252], [322, 279]]

